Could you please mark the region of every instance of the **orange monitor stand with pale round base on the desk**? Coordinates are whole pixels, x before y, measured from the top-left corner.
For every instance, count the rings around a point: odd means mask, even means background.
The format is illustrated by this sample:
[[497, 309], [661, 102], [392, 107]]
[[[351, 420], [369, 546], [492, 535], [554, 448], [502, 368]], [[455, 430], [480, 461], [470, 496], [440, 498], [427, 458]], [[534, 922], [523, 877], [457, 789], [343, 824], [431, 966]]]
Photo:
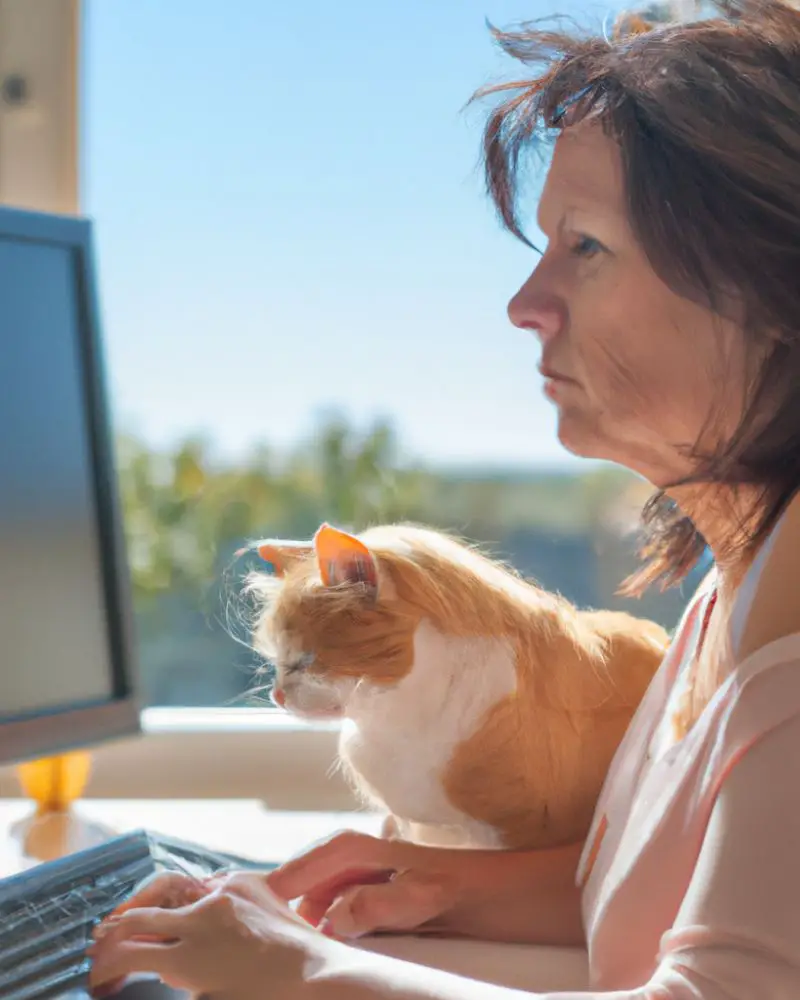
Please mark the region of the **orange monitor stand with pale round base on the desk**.
[[17, 777], [33, 802], [28, 816], [10, 832], [24, 858], [54, 861], [88, 847], [97, 847], [117, 836], [116, 831], [81, 816], [77, 802], [91, 772], [85, 751], [20, 764]]

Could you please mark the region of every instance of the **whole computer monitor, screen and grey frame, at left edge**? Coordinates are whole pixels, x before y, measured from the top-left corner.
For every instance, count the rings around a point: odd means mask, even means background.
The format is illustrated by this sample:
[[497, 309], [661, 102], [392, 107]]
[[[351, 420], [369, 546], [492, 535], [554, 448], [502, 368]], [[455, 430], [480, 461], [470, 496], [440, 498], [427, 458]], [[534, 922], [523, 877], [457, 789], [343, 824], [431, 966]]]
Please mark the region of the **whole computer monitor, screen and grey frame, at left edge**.
[[0, 763], [139, 729], [92, 227], [0, 208]]

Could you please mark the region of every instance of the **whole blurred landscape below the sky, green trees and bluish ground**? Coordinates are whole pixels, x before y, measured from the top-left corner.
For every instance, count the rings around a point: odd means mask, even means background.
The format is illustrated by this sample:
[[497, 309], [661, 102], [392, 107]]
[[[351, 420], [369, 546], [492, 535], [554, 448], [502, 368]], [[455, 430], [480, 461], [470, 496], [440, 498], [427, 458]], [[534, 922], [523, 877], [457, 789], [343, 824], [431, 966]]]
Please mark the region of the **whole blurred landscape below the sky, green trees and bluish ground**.
[[264, 678], [254, 674], [240, 581], [258, 560], [235, 553], [257, 538], [309, 539], [323, 521], [438, 527], [579, 605], [667, 626], [685, 601], [680, 591], [616, 597], [635, 565], [631, 529], [648, 487], [615, 467], [431, 469], [403, 460], [390, 424], [359, 429], [337, 416], [289, 454], [261, 445], [226, 461], [202, 438], [157, 450], [123, 435], [117, 458], [148, 704], [252, 701]]

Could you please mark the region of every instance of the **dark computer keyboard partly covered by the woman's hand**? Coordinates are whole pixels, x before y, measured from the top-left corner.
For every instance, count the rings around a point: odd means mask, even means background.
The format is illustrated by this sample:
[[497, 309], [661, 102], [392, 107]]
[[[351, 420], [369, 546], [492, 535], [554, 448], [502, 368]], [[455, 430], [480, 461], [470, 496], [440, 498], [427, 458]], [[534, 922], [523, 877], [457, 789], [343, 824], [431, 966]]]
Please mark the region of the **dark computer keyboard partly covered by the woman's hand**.
[[[94, 926], [145, 878], [160, 871], [199, 877], [274, 865], [210, 851], [138, 830], [99, 847], [0, 879], [0, 997], [86, 997], [86, 946]], [[160, 983], [132, 983], [119, 1000], [168, 1000], [184, 994]]]

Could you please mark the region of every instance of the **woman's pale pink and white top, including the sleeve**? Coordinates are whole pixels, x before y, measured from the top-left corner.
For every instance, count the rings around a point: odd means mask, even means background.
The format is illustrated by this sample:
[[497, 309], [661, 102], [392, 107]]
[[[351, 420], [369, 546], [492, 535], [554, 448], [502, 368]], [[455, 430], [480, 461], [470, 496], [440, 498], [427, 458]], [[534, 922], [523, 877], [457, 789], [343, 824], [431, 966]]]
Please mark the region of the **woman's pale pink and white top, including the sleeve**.
[[735, 654], [765, 572], [775, 586], [773, 550], [787, 545], [797, 630], [737, 662], [688, 735], [669, 738], [714, 599], [709, 578], [617, 753], [579, 871], [584, 1000], [800, 1000], [798, 500], [739, 590], [730, 641]]

